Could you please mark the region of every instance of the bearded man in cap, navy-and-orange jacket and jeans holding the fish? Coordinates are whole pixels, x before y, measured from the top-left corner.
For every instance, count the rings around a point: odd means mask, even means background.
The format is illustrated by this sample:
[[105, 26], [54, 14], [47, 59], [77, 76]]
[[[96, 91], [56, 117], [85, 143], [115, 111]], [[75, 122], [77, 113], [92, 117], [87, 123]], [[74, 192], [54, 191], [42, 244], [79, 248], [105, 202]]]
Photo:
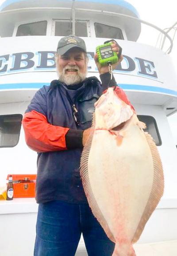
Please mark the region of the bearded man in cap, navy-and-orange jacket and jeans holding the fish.
[[[119, 46], [112, 44], [119, 54]], [[23, 118], [27, 145], [38, 152], [35, 256], [74, 256], [81, 233], [89, 256], [111, 256], [115, 244], [92, 215], [79, 166], [92, 123], [94, 103], [108, 87], [108, 67], [94, 57], [102, 84], [86, 78], [88, 58], [83, 39], [69, 35], [58, 42], [59, 79], [36, 92]], [[123, 56], [120, 55], [118, 65]], [[113, 78], [110, 86], [115, 85]], [[128, 104], [124, 92], [116, 89]]]

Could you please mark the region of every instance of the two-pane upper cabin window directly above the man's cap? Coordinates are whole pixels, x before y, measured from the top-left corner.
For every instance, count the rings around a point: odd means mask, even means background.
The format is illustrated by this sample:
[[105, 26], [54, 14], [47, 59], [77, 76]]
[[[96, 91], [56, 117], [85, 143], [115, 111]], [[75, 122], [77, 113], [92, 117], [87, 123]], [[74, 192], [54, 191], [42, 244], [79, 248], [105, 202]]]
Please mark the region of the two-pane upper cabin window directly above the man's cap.
[[[73, 22], [69, 20], [56, 20], [55, 21], [55, 35], [72, 35], [73, 34]], [[75, 22], [75, 35], [88, 36], [87, 34], [87, 22], [78, 21]]]

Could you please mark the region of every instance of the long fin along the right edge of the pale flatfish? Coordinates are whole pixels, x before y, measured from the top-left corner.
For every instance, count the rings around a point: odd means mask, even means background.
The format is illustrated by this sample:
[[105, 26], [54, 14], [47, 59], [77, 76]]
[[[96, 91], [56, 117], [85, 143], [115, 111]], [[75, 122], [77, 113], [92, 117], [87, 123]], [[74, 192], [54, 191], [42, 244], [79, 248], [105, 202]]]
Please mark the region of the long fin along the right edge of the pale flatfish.
[[141, 236], [141, 233], [146, 225], [146, 222], [149, 220], [151, 214], [154, 212], [155, 208], [157, 207], [163, 195], [163, 190], [164, 190], [163, 168], [162, 168], [162, 162], [158, 153], [157, 146], [155, 145], [155, 142], [150, 134], [145, 132], [145, 136], [149, 144], [150, 151], [153, 158], [154, 179], [153, 179], [150, 197], [146, 204], [144, 213], [142, 214], [141, 220], [139, 222], [138, 228], [133, 237], [132, 243], [135, 243], [139, 240], [139, 237]]

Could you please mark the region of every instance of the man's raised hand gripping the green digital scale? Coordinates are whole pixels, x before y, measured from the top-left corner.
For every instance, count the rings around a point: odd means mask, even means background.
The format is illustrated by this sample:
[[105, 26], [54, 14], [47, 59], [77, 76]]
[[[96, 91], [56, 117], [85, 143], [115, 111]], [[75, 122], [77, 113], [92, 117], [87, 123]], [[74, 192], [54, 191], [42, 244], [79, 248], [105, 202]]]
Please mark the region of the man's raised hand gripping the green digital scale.
[[[115, 51], [117, 54], [119, 54], [119, 46], [116, 43], [113, 43], [111, 45], [111, 47], [112, 47], [112, 51]], [[97, 53], [94, 56], [94, 60], [95, 60], [95, 63], [96, 63], [96, 66], [98, 68], [98, 71], [99, 71], [100, 75], [109, 72], [109, 67], [108, 66], [101, 67], [100, 63], [98, 62]], [[123, 55], [121, 54], [119, 59], [118, 59], [118, 62], [115, 63], [115, 64], [112, 64], [112, 70], [114, 70], [115, 67], [117, 67], [117, 65], [119, 65], [119, 63], [121, 63], [122, 60], [123, 60]]]

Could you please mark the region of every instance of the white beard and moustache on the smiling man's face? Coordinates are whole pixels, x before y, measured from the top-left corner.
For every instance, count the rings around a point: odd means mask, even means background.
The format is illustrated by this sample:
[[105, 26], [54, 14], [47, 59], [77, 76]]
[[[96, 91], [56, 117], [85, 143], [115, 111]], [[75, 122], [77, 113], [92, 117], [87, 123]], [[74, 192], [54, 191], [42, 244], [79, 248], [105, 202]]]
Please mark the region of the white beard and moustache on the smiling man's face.
[[[65, 70], [69, 69], [69, 68], [77, 69], [77, 74], [68, 74], [68, 75], [66, 75]], [[63, 71], [58, 71], [57, 70], [57, 73], [58, 73], [60, 81], [62, 83], [65, 83], [66, 85], [74, 85], [74, 84], [77, 84], [77, 83], [81, 83], [82, 81], [85, 80], [86, 75], [87, 75], [87, 71], [85, 73], [80, 73], [79, 67], [77, 65], [75, 65], [75, 66], [67, 65], [66, 67], [64, 67]]]

